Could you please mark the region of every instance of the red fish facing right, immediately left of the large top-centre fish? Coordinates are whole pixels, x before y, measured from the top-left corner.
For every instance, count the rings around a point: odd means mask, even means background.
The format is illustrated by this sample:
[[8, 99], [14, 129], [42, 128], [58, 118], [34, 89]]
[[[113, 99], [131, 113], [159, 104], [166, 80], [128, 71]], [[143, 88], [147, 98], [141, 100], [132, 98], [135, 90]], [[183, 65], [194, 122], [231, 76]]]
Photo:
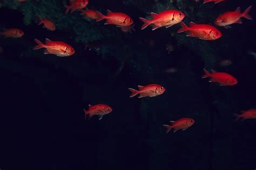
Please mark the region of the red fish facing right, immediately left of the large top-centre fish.
[[130, 26], [133, 24], [132, 18], [130, 18], [125, 13], [111, 12], [110, 10], [107, 10], [106, 16], [99, 11], [97, 11], [97, 13], [99, 18], [97, 18], [96, 21], [102, 21], [103, 19], [106, 19], [105, 24], [113, 24], [117, 25], [118, 27]]

